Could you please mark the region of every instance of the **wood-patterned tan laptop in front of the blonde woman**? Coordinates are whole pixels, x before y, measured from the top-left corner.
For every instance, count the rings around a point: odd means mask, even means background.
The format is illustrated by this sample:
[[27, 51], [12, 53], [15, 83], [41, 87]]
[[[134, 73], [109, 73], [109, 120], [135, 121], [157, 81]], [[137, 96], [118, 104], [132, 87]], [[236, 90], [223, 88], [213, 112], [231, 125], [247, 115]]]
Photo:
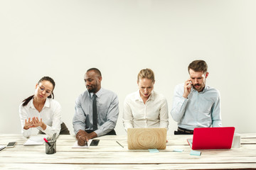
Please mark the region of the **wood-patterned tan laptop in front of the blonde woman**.
[[128, 149], [166, 149], [166, 128], [128, 128]]

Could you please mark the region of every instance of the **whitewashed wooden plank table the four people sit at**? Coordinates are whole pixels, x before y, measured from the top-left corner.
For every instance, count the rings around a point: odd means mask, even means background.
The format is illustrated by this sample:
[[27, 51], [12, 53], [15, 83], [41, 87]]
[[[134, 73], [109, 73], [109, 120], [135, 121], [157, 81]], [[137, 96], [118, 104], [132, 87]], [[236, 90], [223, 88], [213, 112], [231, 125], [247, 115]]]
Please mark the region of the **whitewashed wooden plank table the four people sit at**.
[[241, 134], [240, 148], [200, 150], [201, 156], [190, 155], [186, 139], [191, 137], [168, 136], [166, 149], [149, 153], [127, 149], [126, 136], [97, 137], [97, 147], [72, 149], [75, 137], [60, 135], [57, 153], [46, 154], [45, 145], [23, 146], [25, 137], [0, 134], [0, 145], [17, 142], [14, 148], [0, 151], [0, 169], [256, 169], [256, 134]]

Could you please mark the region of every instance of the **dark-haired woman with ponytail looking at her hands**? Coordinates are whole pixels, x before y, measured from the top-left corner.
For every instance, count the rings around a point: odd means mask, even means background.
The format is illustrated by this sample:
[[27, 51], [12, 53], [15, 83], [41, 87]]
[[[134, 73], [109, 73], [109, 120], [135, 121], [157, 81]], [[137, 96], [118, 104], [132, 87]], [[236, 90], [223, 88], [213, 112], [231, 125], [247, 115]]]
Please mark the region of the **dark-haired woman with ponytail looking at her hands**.
[[57, 136], [70, 135], [65, 123], [61, 121], [60, 103], [53, 99], [54, 87], [52, 78], [43, 77], [36, 84], [35, 94], [23, 100], [19, 106], [21, 132], [24, 137], [29, 137], [33, 128], [49, 137], [54, 133], [57, 133]]

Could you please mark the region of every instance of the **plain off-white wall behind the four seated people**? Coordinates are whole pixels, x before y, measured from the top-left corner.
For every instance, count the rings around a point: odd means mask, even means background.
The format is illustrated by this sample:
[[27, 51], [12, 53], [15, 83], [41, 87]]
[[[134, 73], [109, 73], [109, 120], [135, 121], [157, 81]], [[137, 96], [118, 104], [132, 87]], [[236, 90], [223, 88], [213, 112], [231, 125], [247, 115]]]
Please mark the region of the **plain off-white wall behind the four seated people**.
[[[221, 94], [224, 126], [256, 132], [256, 1], [0, 1], [0, 133], [20, 133], [18, 105], [43, 76], [73, 132], [75, 98], [87, 69], [101, 70], [119, 96], [117, 134], [124, 135], [124, 97], [140, 69], [155, 72], [154, 90], [171, 111], [174, 86], [193, 60], [206, 60], [208, 85]], [[176, 122], [169, 118], [169, 134]]]

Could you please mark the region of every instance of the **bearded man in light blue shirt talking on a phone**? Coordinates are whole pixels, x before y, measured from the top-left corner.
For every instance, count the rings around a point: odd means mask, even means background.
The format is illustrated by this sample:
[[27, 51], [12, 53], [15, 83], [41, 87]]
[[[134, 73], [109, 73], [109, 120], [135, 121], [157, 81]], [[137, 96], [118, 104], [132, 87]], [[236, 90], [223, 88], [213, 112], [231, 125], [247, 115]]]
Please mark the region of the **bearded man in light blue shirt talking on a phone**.
[[220, 93], [206, 85], [208, 66], [203, 60], [188, 65], [190, 78], [174, 91], [171, 116], [178, 122], [174, 135], [193, 134], [194, 128], [221, 127]]

